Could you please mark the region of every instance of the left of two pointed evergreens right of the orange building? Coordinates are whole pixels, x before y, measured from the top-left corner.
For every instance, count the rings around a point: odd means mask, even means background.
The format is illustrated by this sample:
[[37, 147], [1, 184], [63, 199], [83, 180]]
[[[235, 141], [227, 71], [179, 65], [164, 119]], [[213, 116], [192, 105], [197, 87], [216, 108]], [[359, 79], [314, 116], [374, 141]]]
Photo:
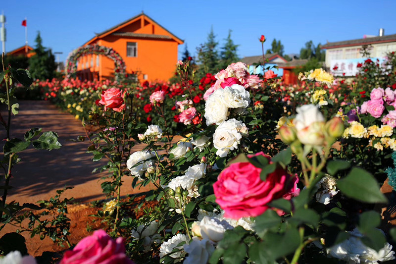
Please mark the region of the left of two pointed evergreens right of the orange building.
[[[219, 54], [217, 52], [217, 45], [215, 40], [216, 36], [213, 33], [213, 27], [207, 36], [207, 41], [197, 48], [199, 69], [202, 74], [216, 73], [219, 69]], [[203, 72], [202, 72], [203, 71]]]

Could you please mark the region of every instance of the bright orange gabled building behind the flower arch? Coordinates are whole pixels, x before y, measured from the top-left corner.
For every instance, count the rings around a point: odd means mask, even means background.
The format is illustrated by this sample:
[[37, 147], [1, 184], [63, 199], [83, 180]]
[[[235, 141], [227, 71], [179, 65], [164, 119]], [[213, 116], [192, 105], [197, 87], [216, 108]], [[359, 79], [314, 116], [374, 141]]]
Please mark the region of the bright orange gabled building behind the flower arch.
[[[167, 81], [174, 75], [178, 46], [183, 44], [168, 30], [141, 13], [108, 30], [96, 34], [83, 46], [99, 45], [120, 54], [126, 73], [137, 73], [139, 81]], [[77, 76], [103, 80], [114, 76], [114, 62], [105, 55], [87, 54], [77, 64]]]

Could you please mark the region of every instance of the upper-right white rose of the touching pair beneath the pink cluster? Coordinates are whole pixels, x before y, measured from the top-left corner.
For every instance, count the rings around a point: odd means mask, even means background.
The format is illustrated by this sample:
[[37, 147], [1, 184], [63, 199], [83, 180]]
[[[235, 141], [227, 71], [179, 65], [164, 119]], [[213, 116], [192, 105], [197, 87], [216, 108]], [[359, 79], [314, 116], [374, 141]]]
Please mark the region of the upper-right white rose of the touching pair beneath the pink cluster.
[[233, 84], [223, 90], [224, 102], [229, 108], [246, 108], [250, 104], [249, 92], [242, 85]]

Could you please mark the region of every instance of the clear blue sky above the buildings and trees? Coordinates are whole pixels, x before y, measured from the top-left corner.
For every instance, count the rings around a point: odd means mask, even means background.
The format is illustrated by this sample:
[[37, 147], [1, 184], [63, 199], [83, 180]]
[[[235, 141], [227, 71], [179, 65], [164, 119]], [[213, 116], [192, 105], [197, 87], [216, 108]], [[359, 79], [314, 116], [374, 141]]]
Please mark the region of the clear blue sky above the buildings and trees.
[[[240, 57], [261, 54], [258, 38], [267, 38], [265, 49], [274, 38], [281, 40], [285, 53], [299, 53], [305, 42], [343, 41], [385, 34], [396, 34], [396, 0], [4, 0], [0, 11], [7, 23], [6, 51], [25, 43], [22, 20], [27, 17], [28, 42], [34, 47], [37, 31], [52, 52], [68, 53], [92, 37], [125, 21], [142, 10], [183, 39], [195, 54], [213, 26], [219, 48], [228, 30], [240, 45]], [[0, 48], [1, 49], [1, 48]], [[185, 45], [179, 46], [179, 57]]]

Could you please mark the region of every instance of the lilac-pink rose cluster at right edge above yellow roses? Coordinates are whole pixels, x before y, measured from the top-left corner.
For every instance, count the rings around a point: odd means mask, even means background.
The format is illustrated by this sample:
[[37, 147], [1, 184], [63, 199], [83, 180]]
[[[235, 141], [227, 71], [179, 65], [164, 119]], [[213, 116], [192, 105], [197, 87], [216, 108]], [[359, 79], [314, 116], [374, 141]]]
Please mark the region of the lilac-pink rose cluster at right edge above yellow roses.
[[[385, 110], [384, 104], [394, 106], [396, 108], [396, 93], [391, 88], [374, 88], [370, 93], [370, 100], [364, 102], [360, 106], [361, 113], [369, 113], [375, 118], [382, 116]], [[396, 111], [391, 110], [385, 115], [381, 121], [384, 124], [396, 127]]]

